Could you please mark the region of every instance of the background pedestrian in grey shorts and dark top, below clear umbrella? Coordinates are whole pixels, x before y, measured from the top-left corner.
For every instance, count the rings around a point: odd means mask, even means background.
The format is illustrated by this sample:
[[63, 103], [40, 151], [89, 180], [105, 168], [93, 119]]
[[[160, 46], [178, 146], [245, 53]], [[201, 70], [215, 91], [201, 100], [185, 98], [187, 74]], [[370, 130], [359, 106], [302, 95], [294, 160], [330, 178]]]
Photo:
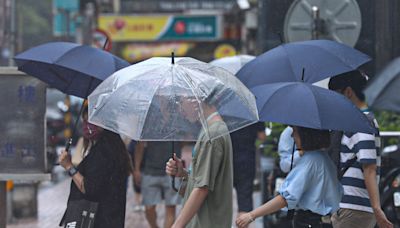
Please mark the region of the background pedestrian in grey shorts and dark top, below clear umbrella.
[[136, 146], [134, 182], [135, 186], [141, 189], [142, 204], [145, 206], [146, 219], [151, 228], [159, 227], [157, 205], [165, 205], [163, 227], [167, 228], [174, 223], [176, 206], [181, 203], [181, 197], [171, 186], [171, 178], [165, 173], [165, 163], [173, 153], [181, 156], [180, 143], [140, 141]]

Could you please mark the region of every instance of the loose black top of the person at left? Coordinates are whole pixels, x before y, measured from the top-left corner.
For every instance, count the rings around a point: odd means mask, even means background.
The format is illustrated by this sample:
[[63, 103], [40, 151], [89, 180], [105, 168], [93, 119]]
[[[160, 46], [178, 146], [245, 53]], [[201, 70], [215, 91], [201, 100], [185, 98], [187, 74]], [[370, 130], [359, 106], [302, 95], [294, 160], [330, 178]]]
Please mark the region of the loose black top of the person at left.
[[126, 178], [125, 165], [116, 159], [115, 143], [104, 134], [91, 147], [77, 169], [84, 177], [85, 194], [71, 181], [70, 200], [86, 199], [99, 202], [96, 228], [123, 228], [125, 223]]

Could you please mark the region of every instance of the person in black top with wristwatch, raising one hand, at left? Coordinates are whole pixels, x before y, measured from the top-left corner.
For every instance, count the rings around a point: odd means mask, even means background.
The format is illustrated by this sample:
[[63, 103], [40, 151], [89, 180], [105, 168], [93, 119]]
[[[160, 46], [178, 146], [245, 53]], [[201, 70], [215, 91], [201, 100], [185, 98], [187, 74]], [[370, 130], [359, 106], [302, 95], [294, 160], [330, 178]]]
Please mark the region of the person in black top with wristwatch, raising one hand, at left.
[[74, 213], [70, 205], [84, 199], [98, 205], [94, 227], [122, 228], [125, 223], [126, 178], [132, 173], [131, 159], [121, 137], [88, 123], [87, 111], [86, 107], [82, 114], [84, 137], [91, 145], [87, 155], [77, 167], [72, 164], [66, 150], [59, 157], [60, 165], [72, 178], [67, 209], [60, 224], [68, 227], [70, 215]]

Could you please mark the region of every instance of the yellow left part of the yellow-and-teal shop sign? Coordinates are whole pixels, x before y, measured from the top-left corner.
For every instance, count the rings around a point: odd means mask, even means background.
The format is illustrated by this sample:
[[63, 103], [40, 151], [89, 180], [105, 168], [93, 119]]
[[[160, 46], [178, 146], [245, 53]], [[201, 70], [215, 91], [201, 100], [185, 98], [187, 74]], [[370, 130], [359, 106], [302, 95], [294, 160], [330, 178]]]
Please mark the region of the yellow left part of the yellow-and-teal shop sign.
[[113, 41], [156, 40], [163, 34], [170, 16], [100, 16], [99, 28]]

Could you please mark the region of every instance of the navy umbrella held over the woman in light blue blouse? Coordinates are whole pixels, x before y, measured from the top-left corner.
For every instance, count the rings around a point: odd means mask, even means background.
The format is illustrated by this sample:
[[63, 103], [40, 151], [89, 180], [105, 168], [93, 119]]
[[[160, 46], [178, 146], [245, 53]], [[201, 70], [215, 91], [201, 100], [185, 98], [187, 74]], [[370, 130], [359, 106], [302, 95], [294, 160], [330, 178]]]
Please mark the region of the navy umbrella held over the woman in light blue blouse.
[[250, 89], [262, 121], [314, 129], [376, 133], [367, 117], [346, 97], [303, 82], [281, 82]]

